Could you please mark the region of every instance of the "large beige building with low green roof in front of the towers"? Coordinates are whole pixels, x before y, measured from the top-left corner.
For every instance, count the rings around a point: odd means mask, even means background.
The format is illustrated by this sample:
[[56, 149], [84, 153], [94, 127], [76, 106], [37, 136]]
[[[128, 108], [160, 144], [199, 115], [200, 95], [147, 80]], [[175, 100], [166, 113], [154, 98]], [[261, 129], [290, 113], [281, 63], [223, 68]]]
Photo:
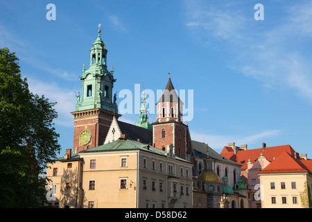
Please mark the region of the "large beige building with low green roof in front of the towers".
[[192, 164], [175, 157], [172, 148], [119, 139], [65, 155], [46, 173], [54, 190], [52, 206], [192, 207]]

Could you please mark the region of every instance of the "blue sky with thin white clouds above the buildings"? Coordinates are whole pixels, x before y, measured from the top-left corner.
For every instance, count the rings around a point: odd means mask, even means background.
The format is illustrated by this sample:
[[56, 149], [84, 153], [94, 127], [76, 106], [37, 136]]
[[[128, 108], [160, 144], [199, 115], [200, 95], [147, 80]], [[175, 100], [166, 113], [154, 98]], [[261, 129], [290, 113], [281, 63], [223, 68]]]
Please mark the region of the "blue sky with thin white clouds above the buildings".
[[[55, 21], [46, 19], [48, 3]], [[144, 81], [156, 94], [170, 72], [175, 89], [193, 90], [192, 139], [218, 153], [230, 142], [265, 142], [312, 157], [311, 17], [311, 1], [1, 0], [0, 47], [17, 53], [32, 92], [58, 101], [60, 155], [73, 146], [70, 112], [101, 23], [114, 92], [134, 94]], [[139, 114], [121, 119], [134, 123]]]

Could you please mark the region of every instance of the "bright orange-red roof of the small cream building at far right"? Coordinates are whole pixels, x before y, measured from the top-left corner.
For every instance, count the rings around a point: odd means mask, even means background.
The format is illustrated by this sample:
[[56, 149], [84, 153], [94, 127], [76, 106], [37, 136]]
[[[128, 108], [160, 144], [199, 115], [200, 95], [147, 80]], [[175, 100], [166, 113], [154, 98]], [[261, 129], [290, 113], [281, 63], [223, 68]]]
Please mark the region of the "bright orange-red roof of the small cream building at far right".
[[281, 152], [268, 166], [258, 173], [311, 173], [311, 169], [286, 151]]

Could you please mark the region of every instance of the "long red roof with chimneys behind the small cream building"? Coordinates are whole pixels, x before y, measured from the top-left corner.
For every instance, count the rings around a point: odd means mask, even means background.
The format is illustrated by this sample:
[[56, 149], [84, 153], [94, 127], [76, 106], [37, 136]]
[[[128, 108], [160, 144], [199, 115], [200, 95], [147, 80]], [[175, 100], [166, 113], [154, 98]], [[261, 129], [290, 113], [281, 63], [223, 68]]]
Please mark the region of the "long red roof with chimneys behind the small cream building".
[[295, 156], [296, 154], [296, 152], [290, 145], [283, 145], [266, 147], [264, 148], [264, 151], [263, 148], [239, 150], [236, 152], [236, 155], [234, 155], [234, 151], [231, 147], [225, 146], [221, 151], [220, 155], [223, 155], [227, 159], [237, 162], [239, 164], [243, 164], [241, 169], [247, 169], [248, 160], [254, 163], [255, 160], [257, 160], [257, 158], [261, 156], [261, 153], [263, 157], [266, 157], [268, 161], [272, 162], [272, 160], [274, 160], [274, 158], [281, 154], [283, 151], [286, 151], [292, 156]]

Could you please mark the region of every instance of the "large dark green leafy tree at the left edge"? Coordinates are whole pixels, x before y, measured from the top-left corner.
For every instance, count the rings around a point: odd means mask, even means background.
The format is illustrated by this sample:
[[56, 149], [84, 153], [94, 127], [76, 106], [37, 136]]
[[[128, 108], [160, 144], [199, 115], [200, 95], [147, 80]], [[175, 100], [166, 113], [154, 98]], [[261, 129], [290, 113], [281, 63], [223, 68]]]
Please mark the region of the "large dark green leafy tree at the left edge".
[[0, 49], [0, 207], [40, 207], [46, 198], [40, 175], [60, 153], [58, 114], [55, 103], [29, 91], [18, 60]]

